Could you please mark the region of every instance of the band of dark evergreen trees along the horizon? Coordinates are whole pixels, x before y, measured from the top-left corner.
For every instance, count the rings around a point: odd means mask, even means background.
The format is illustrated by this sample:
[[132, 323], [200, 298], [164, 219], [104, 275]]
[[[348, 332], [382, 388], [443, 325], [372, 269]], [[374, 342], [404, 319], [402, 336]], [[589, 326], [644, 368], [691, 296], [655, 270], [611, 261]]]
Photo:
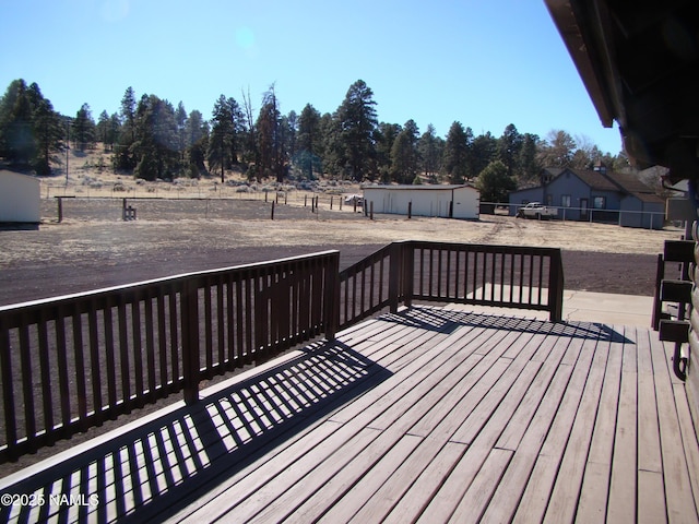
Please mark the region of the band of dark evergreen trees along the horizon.
[[[509, 124], [497, 136], [475, 135], [453, 121], [445, 138], [414, 120], [382, 122], [371, 88], [353, 83], [337, 109], [320, 114], [310, 103], [288, 114], [272, 85], [253, 107], [249, 94], [222, 94], [212, 108], [188, 111], [154, 94], [127, 87], [119, 111], [103, 110], [95, 121], [83, 104], [74, 115], [54, 110], [36, 83], [10, 83], [0, 97], [0, 159], [19, 170], [48, 176], [60, 168], [68, 147], [104, 147], [115, 172], [145, 180], [217, 177], [233, 172], [249, 180], [337, 180], [396, 183], [463, 183], [485, 171], [488, 183], [508, 188], [536, 184], [544, 167], [613, 169], [628, 165], [623, 153], [601, 152], [567, 131], [547, 136]], [[485, 184], [485, 182], [482, 181]], [[497, 188], [496, 188], [497, 190]]]

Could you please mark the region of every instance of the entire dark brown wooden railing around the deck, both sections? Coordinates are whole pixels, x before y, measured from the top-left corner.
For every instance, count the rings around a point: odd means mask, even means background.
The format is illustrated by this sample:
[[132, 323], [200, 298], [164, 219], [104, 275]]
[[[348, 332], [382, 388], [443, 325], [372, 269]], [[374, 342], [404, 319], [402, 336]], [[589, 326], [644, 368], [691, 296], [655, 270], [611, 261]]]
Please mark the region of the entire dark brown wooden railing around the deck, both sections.
[[0, 461], [414, 300], [562, 309], [560, 251], [394, 242], [0, 307]]

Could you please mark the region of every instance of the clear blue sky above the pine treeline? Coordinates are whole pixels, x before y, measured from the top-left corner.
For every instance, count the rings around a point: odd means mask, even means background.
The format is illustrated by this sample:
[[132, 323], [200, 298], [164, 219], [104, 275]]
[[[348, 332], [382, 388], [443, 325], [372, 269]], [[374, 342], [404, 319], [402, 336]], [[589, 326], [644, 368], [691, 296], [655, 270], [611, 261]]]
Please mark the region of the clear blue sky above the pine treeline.
[[36, 82], [61, 114], [118, 111], [127, 87], [211, 118], [221, 94], [253, 110], [332, 112], [356, 80], [380, 121], [446, 136], [562, 129], [617, 154], [543, 0], [0, 0], [0, 90]]

